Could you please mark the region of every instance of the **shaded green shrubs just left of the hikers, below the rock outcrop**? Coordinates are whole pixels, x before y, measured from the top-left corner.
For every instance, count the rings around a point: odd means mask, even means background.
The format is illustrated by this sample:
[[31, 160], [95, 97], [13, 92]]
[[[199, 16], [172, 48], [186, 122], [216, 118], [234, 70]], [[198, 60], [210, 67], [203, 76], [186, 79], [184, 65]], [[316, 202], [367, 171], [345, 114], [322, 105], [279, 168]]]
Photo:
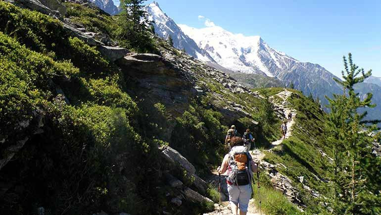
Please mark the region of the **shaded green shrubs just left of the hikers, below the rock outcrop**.
[[219, 112], [192, 104], [182, 116], [176, 118], [170, 146], [200, 170], [207, 170], [205, 161], [218, 164], [218, 153], [223, 153], [225, 138], [221, 117]]

